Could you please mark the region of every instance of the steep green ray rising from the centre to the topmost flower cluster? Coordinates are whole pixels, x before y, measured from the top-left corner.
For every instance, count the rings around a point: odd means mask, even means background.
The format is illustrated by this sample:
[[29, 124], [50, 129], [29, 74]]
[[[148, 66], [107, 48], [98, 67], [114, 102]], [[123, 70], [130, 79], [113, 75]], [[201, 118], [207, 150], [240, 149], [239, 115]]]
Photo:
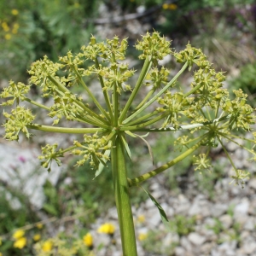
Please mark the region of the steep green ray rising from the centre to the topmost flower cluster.
[[125, 108], [123, 109], [122, 113], [120, 114], [119, 123], [122, 123], [123, 119], [125, 119], [125, 115], [126, 115], [127, 111], [129, 110], [129, 108], [131, 107], [131, 103], [133, 102], [135, 96], [137, 96], [138, 90], [142, 87], [143, 80], [145, 79], [151, 65], [152, 65], [152, 61], [149, 61], [149, 58], [147, 57], [147, 59], [144, 61], [142, 72], [140, 73], [140, 76], [137, 79], [137, 83], [135, 84], [135, 87], [132, 90], [131, 96], [129, 97], [128, 102], [126, 102], [126, 104], [125, 104]]

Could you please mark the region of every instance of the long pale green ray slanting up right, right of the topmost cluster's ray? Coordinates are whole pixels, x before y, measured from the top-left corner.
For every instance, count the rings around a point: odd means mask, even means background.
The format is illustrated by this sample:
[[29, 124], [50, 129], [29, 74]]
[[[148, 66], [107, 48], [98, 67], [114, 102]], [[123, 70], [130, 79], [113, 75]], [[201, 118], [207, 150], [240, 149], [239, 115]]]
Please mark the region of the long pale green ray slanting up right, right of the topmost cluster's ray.
[[159, 96], [161, 96], [173, 83], [176, 82], [177, 78], [185, 71], [185, 69], [189, 66], [189, 63], [186, 62], [182, 69], [175, 75], [175, 77], [168, 83], [166, 86], [160, 90], [150, 101], [148, 101], [142, 108], [138, 109], [135, 113], [132, 113], [127, 119], [123, 121], [123, 124], [128, 123], [131, 119], [136, 117], [139, 113], [141, 113], [145, 108], [148, 108]]

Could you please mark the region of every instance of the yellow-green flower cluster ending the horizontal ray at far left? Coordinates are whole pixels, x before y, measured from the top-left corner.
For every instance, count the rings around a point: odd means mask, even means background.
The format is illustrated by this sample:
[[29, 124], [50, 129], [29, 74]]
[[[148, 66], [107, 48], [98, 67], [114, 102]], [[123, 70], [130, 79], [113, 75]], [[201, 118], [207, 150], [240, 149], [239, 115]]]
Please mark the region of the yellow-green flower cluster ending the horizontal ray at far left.
[[35, 116], [32, 115], [30, 109], [18, 106], [17, 108], [12, 109], [11, 113], [3, 112], [3, 116], [7, 118], [6, 123], [3, 124], [5, 128], [4, 138], [11, 141], [17, 141], [19, 139], [20, 131], [24, 132], [26, 137], [31, 137], [26, 126], [32, 124]]

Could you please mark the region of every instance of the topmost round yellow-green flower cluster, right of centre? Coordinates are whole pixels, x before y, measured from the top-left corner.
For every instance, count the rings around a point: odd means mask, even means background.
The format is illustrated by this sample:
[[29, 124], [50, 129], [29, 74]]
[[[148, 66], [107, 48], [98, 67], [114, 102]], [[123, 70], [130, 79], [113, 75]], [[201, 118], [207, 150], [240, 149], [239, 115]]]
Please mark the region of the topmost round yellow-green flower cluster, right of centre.
[[152, 35], [147, 32], [141, 41], [137, 41], [135, 47], [136, 49], [143, 50], [143, 54], [139, 55], [140, 60], [149, 57], [153, 65], [157, 66], [158, 61], [163, 60], [166, 55], [172, 53], [170, 45], [171, 42], [167, 41], [164, 37], [161, 38], [159, 32], [153, 32]]

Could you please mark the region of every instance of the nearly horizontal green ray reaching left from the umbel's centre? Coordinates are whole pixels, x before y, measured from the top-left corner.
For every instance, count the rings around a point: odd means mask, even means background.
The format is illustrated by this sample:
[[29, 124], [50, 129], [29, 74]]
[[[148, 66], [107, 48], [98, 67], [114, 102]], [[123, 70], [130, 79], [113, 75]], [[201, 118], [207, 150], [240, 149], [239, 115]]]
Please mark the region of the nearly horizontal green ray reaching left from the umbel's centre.
[[53, 127], [49, 125], [26, 125], [28, 129], [39, 130], [39, 131], [52, 131], [60, 133], [95, 133], [97, 131], [106, 131], [103, 128], [66, 128], [66, 127]]

